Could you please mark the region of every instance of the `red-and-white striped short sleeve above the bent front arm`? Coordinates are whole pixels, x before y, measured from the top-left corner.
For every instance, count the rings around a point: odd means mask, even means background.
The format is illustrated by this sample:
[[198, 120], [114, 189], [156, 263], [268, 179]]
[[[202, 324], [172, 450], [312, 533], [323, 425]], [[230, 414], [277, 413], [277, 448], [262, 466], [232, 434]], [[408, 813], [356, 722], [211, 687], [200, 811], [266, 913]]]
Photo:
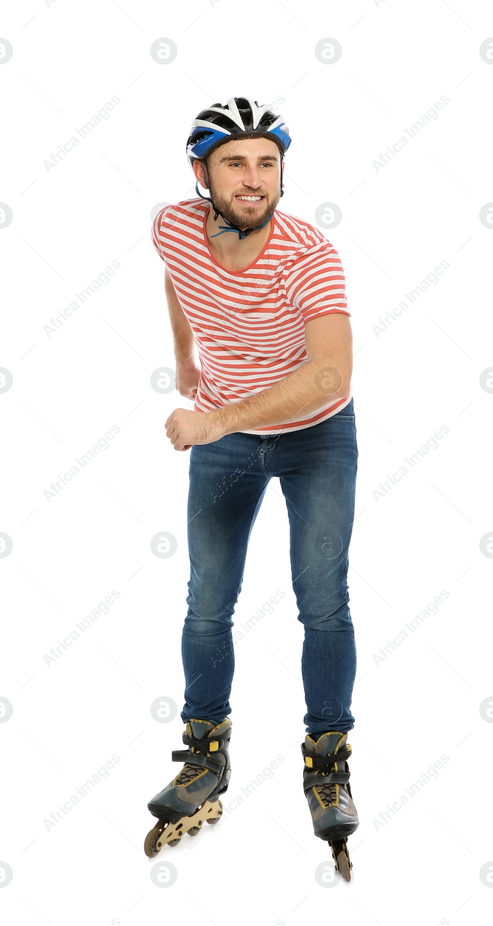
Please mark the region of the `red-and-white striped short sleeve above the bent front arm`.
[[330, 242], [317, 244], [288, 269], [286, 293], [304, 323], [322, 315], [342, 312], [351, 317], [346, 300], [344, 270]]

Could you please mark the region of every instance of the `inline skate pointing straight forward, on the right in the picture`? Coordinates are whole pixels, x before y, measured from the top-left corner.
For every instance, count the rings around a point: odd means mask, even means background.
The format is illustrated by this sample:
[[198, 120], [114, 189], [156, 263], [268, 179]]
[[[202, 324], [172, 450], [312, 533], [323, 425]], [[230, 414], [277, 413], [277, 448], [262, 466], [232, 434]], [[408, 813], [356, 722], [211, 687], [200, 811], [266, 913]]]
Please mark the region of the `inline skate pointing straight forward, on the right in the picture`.
[[348, 836], [360, 825], [358, 811], [352, 803], [351, 772], [346, 759], [351, 756], [348, 734], [314, 733], [302, 744], [304, 757], [303, 788], [314, 823], [314, 834], [327, 839], [336, 870], [351, 881], [351, 859], [346, 845]]

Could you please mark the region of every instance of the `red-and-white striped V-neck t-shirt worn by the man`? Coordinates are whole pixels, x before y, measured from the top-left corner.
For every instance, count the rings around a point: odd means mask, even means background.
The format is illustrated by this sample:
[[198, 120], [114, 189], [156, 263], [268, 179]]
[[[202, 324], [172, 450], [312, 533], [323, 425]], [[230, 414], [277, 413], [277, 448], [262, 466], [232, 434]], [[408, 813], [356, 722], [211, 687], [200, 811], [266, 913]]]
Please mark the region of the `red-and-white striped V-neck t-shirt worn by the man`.
[[[258, 257], [231, 271], [209, 248], [209, 208], [203, 199], [166, 206], [152, 229], [199, 351], [194, 408], [202, 412], [263, 392], [308, 362], [304, 325], [310, 319], [333, 312], [351, 316], [339, 254], [313, 225], [276, 210]], [[301, 431], [350, 402], [351, 387], [310, 418], [242, 433]]]

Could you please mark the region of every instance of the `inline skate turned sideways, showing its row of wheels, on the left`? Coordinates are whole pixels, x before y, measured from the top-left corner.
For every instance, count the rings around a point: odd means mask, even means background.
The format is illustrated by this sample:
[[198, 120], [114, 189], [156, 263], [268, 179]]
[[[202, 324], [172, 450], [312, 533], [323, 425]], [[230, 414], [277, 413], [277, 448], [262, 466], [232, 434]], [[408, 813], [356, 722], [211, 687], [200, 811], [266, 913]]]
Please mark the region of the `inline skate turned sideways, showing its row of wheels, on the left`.
[[171, 753], [173, 762], [185, 762], [166, 788], [155, 795], [147, 807], [157, 823], [144, 842], [146, 856], [157, 855], [163, 845], [178, 845], [184, 832], [195, 836], [203, 821], [217, 823], [223, 812], [218, 795], [228, 789], [231, 769], [228, 745], [231, 721], [210, 723], [189, 720], [182, 740], [188, 749]]

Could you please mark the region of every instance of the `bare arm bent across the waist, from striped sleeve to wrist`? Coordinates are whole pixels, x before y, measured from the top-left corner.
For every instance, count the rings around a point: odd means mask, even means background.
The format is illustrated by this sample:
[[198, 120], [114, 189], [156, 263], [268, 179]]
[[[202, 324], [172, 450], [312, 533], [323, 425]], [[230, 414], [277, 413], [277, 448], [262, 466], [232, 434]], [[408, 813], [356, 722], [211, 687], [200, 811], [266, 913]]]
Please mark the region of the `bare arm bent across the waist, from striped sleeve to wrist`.
[[208, 412], [220, 434], [272, 427], [310, 418], [320, 408], [349, 395], [352, 332], [341, 312], [312, 319], [304, 330], [308, 362], [263, 392]]

